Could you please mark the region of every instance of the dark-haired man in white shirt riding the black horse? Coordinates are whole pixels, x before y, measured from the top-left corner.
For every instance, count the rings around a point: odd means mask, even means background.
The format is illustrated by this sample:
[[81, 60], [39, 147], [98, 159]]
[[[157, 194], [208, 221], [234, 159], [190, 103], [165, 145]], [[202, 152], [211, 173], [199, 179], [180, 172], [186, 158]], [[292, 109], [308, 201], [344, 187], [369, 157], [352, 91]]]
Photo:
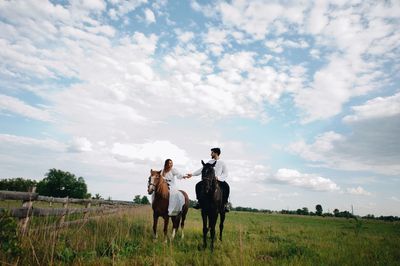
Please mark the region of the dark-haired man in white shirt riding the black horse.
[[[225, 206], [225, 212], [229, 212], [227, 203], [228, 203], [228, 198], [229, 198], [229, 185], [226, 182], [226, 179], [228, 177], [228, 169], [223, 161], [219, 159], [219, 156], [221, 155], [221, 149], [220, 148], [212, 148], [211, 149], [211, 160], [208, 161], [208, 163], [212, 164], [214, 162], [217, 162], [214, 166], [215, 170], [215, 177], [218, 180], [219, 187], [222, 189], [222, 203]], [[201, 170], [203, 168], [200, 168], [199, 170], [195, 171], [192, 174], [188, 174], [187, 176], [190, 178], [192, 176], [198, 176], [201, 175]], [[197, 205], [194, 206], [195, 209], [200, 209], [200, 191], [203, 185], [203, 180], [198, 182], [196, 184], [196, 197], [197, 197]]]

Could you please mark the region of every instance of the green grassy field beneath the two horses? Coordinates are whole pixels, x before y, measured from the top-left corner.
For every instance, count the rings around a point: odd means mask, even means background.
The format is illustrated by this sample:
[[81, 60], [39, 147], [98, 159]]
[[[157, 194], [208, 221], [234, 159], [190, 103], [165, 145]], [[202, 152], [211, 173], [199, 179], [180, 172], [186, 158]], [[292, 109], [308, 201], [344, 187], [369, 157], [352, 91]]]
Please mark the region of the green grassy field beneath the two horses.
[[[31, 230], [19, 257], [0, 253], [0, 264], [400, 265], [399, 223], [230, 212], [214, 253], [201, 248], [197, 210], [189, 210], [183, 240], [179, 231], [173, 242], [153, 241], [151, 228], [146, 206], [59, 231]], [[161, 228], [159, 221], [160, 236]]]

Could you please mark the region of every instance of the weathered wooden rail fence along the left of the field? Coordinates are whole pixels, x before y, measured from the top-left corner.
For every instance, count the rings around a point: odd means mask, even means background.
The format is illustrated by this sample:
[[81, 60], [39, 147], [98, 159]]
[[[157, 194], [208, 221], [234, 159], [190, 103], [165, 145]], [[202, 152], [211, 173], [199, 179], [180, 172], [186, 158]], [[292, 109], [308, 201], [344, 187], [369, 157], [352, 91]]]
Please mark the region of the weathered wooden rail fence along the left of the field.
[[[64, 227], [70, 224], [81, 223], [88, 221], [92, 218], [108, 215], [119, 212], [121, 210], [137, 207], [138, 204], [132, 201], [120, 200], [98, 200], [98, 199], [74, 199], [74, 198], [54, 198], [41, 196], [33, 192], [17, 192], [17, 191], [4, 191], [0, 190], [0, 200], [21, 200], [22, 207], [20, 208], [0, 208], [0, 211], [8, 210], [11, 216], [19, 219], [19, 225], [22, 234], [26, 233], [29, 220], [32, 216], [57, 216], [59, 217], [56, 226]], [[37, 208], [33, 204], [36, 201], [48, 202], [49, 208]], [[63, 204], [62, 208], [52, 208], [53, 203]], [[85, 207], [82, 208], [69, 208], [69, 204], [81, 204]], [[83, 219], [66, 222], [65, 218], [70, 214], [84, 214]], [[98, 214], [93, 216], [93, 214]]]

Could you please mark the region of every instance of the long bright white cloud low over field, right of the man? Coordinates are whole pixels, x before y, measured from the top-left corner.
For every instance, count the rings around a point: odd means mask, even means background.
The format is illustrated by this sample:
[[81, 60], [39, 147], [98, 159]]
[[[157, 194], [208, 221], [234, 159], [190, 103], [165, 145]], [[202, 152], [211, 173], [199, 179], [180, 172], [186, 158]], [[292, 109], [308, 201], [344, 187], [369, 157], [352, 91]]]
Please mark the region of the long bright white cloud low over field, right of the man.
[[304, 174], [293, 169], [279, 169], [273, 176], [273, 180], [316, 191], [340, 190], [340, 187], [329, 178], [312, 174]]

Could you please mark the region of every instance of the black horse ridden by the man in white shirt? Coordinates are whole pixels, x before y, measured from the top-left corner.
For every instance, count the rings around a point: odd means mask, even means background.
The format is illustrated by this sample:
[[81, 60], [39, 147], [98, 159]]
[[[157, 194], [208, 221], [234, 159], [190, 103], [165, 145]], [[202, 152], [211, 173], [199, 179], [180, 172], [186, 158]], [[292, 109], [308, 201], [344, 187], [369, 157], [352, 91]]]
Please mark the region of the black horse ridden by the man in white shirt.
[[[201, 200], [201, 217], [203, 218], [203, 247], [207, 247], [207, 233], [210, 231], [211, 236], [211, 251], [214, 250], [214, 238], [215, 238], [215, 225], [217, 224], [218, 214], [220, 216], [219, 221], [219, 239], [222, 241], [222, 231], [224, 230], [225, 221], [225, 207], [222, 202], [222, 190], [218, 185], [218, 181], [215, 177], [213, 164], [203, 164], [201, 171], [201, 178], [203, 186], [200, 193]], [[208, 223], [208, 226], [207, 226]]]

